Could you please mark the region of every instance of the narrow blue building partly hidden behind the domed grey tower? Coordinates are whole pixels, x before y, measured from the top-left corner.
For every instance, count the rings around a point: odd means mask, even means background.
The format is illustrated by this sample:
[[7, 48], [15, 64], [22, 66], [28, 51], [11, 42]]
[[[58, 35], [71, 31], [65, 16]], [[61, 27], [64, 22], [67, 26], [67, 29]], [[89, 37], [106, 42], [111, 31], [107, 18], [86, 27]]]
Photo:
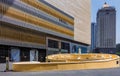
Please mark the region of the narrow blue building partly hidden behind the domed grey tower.
[[96, 23], [91, 23], [91, 51], [94, 52], [96, 48]]

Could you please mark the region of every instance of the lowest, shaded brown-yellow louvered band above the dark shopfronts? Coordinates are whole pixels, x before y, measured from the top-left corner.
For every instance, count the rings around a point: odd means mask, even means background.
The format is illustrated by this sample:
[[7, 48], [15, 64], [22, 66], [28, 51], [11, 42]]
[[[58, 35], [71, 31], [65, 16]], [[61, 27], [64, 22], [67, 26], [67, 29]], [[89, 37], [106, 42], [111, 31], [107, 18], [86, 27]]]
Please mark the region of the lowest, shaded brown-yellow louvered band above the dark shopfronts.
[[5, 26], [0, 27], [0, 37], [5, 39], [11, 39], [15, 41], [24, 41], [38, 44], [46, 44], [46, 36], [45, 35], [37, 35], [30, 33], [29, 31], [24, 32], [21, 30], [17, 30], [15, 28], [7, 27], [11, 24], [1, 22]]

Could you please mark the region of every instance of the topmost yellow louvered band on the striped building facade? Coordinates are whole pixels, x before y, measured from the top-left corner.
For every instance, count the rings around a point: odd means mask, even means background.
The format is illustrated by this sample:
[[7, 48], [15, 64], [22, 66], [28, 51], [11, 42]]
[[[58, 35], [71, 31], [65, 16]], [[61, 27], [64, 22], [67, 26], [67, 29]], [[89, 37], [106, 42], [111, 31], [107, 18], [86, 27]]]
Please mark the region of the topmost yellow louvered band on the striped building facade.
[[73, 19], [70, 19], [70, 18], [66, 17], [65, 15], [59, 13], [58, 11], [50, 8], [49, 6], [47, 6], [47, 5], [45, 5], [41, 2], [38, 2], [37, 0], [21, 0], [21, 1], [37, 8], [37, 9], [43, 10], [43, 11], [45, 11], [45, 12], [47, 12], [47, 13], [49, 13], [49, 14], [57, 17], [57, 18], [61, 18], [65, 21], [69, 22], [70, 24], [74, 25], [74, 20]]

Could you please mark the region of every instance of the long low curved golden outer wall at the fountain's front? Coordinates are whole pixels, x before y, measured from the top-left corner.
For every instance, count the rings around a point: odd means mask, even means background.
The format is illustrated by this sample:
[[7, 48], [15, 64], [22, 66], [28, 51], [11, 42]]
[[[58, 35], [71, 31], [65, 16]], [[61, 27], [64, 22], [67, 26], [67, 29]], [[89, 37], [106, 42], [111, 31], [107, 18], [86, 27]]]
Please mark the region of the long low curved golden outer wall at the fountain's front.
[[13, 64], [13, 71], [53, 71], [53, 70], [81, 70], [101, 69], [119, 67], [116, 60], [84, 62], [84, 63], [16, 63]]

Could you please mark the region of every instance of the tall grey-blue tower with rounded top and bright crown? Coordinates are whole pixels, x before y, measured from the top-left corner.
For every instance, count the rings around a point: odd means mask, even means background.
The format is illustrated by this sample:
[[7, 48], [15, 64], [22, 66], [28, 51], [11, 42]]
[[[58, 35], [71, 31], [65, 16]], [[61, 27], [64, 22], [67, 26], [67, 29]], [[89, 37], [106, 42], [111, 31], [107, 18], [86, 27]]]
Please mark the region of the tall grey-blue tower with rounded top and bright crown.
[[97, 12], [96, 51], [115, 53], [116, 48], [116, 10], [107, 3]]

